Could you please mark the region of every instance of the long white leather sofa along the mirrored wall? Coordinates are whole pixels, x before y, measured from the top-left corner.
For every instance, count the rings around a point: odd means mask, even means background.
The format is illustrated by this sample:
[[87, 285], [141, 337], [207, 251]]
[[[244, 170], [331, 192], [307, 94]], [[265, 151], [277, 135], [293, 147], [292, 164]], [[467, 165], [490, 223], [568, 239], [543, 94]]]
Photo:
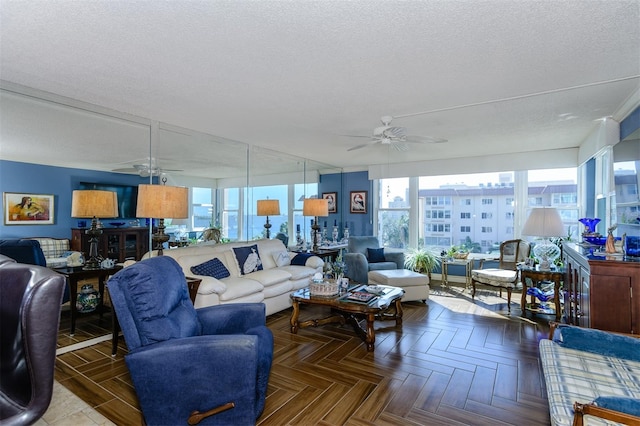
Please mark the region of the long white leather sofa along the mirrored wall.
[[[233, 248], [248, 247], [256, 244], [262, 262], [261, 271], [242, 275]], [[200, 243], [189, 247], [164, 250], [164, 256], [174, 258], [182, 267], [186, 276], [202, 280], [198, 288], [194, 306], [202, 308], [225, 303], [263, 302], [267, 315], [287, 309], [291, 306], [289, 295], [309, 285], [309, 279], [316, 272], [322, 272], [324, 262], [317, 256], [306, 259], [304, 266], [285, 264], [276, 265], [276, 256], [284, 255], [292, 259], [296, 253], [290, 253], [282, 241], [257, 240], [248, 242], [215, 244]], [[144, 257], [155, 256], [155, 252]], [[213, 258], [218, 258], [227, 268], [231, 276], [216, 279], [212, 276], [197, 275], [191, 271], [192, 266], [200, 265]], [[285, 262], [284, 263], [288, 263]]]

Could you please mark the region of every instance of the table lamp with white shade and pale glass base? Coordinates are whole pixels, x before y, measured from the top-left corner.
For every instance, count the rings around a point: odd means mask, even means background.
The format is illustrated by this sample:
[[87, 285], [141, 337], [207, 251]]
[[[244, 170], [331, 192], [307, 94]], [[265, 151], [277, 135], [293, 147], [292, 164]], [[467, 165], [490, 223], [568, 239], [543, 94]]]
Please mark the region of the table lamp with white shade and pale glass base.
[[543, 239], [533, 246], [533, 254], [540, 264], [541, 271], [551, 270], [553, 262], [560, 257], [560, 248], [549, 238], [564, 235], [564, 225], [558, 210], [553, 207], [537, 207], [531, 210], [522, 228], [522, 235]]

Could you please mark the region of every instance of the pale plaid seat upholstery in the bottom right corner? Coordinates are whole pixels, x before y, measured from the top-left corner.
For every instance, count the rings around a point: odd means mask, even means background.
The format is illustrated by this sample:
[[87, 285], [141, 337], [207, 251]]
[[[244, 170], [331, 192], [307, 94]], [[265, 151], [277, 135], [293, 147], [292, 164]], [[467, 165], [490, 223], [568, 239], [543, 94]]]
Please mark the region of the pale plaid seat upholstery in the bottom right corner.
[[[552, 425], [570, 425], [573, 403], [588, 403], [599, 396], [640, 399], [640, 362], [564, 348], [540, 341], [540, 360], [547, 384]], [[615, 425], [585, 416], [587, 425]]]

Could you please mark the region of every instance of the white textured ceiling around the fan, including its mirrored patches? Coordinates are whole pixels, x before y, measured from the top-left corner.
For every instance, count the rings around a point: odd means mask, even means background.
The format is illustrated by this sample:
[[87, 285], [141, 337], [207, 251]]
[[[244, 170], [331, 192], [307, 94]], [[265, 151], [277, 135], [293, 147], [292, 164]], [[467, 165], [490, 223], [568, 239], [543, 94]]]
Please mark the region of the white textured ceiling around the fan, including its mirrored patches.
[[[0, 31], [4, 83], [347, 170], [535, 163], [640, 103], [640, 0], [0, 0]], [[343, 135], [370, 135], [383, 115], [448, 142], [348, 152], [363, 139]], [[131, 160], [126, 141], [109, 143], [105, 169]], [[17, 161], [104, 157], [99, 143], [1, 144]], [[188, 151], [172, 166], [202, 160]]]

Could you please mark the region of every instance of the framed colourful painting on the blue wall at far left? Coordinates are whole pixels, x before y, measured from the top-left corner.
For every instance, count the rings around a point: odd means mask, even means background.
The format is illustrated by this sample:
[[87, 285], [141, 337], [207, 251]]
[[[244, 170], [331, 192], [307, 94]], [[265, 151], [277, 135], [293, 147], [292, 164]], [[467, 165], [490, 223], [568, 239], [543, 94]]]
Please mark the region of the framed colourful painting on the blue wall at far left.
[[5, 225], [53, 225], [53, 195], [4, 193]]

